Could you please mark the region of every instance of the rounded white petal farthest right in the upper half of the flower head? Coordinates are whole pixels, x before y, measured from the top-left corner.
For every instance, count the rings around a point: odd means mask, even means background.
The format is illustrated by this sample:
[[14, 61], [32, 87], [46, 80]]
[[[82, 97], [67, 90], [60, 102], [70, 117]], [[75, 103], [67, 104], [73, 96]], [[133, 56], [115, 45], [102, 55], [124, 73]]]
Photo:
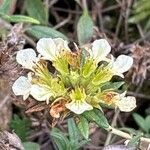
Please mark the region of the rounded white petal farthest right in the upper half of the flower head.
[[128, 71], [131, 68], [132, 64], [133, 64], [132, 57], [120, 55], [113, 64], [113, 70], [121, 74]]

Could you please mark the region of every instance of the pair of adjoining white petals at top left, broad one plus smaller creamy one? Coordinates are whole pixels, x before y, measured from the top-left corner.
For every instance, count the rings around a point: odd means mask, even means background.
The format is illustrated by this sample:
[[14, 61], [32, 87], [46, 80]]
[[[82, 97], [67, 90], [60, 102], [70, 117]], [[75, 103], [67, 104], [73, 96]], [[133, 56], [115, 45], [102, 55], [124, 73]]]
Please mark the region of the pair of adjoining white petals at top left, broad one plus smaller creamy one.
[[37, 51], [43, 59], [54, 61], [63, 50], [69, 50], [67, 41], [61, 38], [42, 38], [37, 42]]

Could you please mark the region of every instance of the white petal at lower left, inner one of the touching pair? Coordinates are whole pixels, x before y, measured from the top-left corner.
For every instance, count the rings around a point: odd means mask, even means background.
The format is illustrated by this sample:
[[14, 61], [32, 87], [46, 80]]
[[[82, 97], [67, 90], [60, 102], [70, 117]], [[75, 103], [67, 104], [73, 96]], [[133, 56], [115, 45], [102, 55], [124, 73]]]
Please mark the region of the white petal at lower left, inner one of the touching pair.
[[53, 95], [48, 87], [33, 84], [30, 94], [38, 101], [49, 101]]

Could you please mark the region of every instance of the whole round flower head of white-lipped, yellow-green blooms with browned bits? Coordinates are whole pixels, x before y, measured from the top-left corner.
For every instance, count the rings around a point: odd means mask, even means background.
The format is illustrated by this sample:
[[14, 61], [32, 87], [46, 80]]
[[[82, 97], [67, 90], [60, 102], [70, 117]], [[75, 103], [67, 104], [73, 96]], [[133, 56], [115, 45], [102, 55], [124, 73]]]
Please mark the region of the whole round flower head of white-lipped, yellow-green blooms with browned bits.
[[[105, 39], [95, 40], [89, 47], [73, 46], [70, 48], [61, 38], [42, 38], [36, 47], [39, 55], [30, 48], [18, 51], [16, 60], [29, 73], [14, 82], [14, 94], [22, 95], [24, 100], [31, 95], [37, 101], [46, 101], [55, 118], [63, 112], [82, 114], [103, 105], [132, 111], [135, 98], [118, 93], [111, 85], [113, 76], [124, 78], [133, 59], [126, 55], [115, 59]], [[49, 62], [54, 73], [48, 69]]]

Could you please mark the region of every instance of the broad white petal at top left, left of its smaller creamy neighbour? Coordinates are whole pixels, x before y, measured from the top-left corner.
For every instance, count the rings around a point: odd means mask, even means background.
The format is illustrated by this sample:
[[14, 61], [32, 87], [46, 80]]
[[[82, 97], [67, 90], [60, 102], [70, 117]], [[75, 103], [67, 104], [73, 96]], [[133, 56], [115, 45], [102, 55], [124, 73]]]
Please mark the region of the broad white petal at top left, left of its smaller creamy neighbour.
[[44, 59], [53, 61], [56, 58], [56, 44], [51, 38], [42, 38], [37, 42], [37, 51]]

